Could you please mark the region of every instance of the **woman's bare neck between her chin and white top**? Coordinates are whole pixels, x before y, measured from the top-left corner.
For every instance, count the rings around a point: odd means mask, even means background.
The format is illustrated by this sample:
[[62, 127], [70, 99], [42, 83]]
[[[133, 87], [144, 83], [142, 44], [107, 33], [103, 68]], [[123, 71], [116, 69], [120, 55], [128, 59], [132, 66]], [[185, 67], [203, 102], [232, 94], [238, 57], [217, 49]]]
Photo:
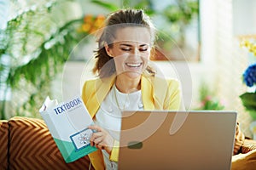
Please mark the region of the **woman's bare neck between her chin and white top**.
[[131, 94], [141, 89], [141, 77], [129, 79], [119, 75], [116, 77], [115, 86], [119, 89], [119, 92]]

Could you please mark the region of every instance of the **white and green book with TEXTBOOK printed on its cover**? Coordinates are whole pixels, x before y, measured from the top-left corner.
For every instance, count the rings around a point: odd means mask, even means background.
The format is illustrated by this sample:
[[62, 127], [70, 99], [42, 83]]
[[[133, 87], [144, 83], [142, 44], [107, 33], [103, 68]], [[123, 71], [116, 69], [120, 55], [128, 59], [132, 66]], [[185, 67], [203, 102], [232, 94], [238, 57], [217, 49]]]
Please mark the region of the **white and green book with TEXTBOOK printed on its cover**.
[[51, 100], [48, 96], [39, 112], [66, 162], [76, 161], [97, 150], [90, 146], [94, 131], [88, 126], [93, 121], [81, 97], [58, 104], [56, 99]]

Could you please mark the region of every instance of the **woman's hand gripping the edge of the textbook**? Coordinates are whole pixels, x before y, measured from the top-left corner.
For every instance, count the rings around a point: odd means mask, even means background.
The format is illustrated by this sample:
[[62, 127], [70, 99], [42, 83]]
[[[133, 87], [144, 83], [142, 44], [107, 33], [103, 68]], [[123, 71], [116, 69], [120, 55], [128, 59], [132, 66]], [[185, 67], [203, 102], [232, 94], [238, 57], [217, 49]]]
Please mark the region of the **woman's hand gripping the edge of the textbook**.
[[112, 136], [105, 129], [97, 125], [89, 126], [88, 128], [97, 131], [96, 133], [92, 133], [90, 138], [90, 145], [95, 145], [96, 148], [100, 150], [106, 150], [110, 155], [113, 148]]

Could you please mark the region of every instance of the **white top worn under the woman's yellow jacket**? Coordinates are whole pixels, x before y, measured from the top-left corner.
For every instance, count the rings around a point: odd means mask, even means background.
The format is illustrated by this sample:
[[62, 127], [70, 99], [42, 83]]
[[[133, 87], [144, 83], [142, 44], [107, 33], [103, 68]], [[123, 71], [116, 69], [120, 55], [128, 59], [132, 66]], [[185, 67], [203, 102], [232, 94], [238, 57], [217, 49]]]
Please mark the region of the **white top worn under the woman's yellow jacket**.
[[[113, 85], [106, 99], [96, 112], [96, 124], [103, 127], [110, 133], [113, 139], [119, 141], [119, 132], [121, 129], [121, 111], [142, 111], [143, 100], [142, 91], [131, 94], [123, 94]], [[109, 155], [106, 150], [102, 150], [105, 165], [107, 169], [117, 169], [117, 162], [109, 161]]]

